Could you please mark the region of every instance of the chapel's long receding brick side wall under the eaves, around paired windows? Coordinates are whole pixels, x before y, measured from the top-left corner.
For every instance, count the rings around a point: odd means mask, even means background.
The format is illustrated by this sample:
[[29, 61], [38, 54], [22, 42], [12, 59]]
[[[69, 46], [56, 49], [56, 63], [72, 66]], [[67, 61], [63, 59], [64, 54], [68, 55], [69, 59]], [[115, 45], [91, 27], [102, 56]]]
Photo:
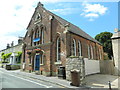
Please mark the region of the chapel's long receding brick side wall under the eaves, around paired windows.
[[[99, 45], [99, 44], [97, 44], [97, 43], [95, 43], [95, 42], [93, 42], [93, 41], [90, 41], [90, 40], [87, 40], [87, 39], [85, 39], [85, 38], [83, 38], [83, 37], [81, 37], [81, 36], [78, 36], [78, 35], [76, 35], [76, 34], [73, 34], [73, 33], [67, 33], [67, 38], [66, 38], [67, 40], [67, 57], [69, 57], [69, 56], [71, 56], [71, 45], [72, 45], [72, 40], [73, 39], [75, 39], [75, 41], [76, 41], [76, 54], [77, 54], [77, 56], [78, 56], [78, 41], [80, 41], [81, 42], [81, 45], [82, 45], [82, 56], [84, 57], [84, 58], [88, 58], [88, 45], [91, 45], [92, 47], [93, 47], [93, 56], [94, 56], [94, 58], [93, 59], [95, 59], [95, 60], [99, 60], [100, 59], [100, 57], [99, 57], [99, 54], [100, 54], [100, 52], [98, 52], [98, 49], [100, 49], [101, 50], [101, 53], [103, 53], [103, 50], [102, 50], [102, 46], [101, 45]], [[102, 56], [102, 58], [101, 59], [103, 59], [103, 54], [101, 55]]]

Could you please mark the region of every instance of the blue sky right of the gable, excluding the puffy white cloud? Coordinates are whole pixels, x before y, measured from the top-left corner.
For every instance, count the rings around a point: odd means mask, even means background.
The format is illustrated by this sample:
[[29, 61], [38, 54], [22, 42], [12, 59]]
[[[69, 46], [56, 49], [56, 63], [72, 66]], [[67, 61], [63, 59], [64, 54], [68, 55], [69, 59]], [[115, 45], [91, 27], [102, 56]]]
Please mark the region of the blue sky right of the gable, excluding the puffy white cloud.
[[[93, 17], [93, 20], [90, 18], [85, 18], [81, 14], [83, 13], [84, 6], [83, 2], [72, 2], [72, 3], [53, 3], [53, 4], [45, 4], [44, 6], [57, 14], [58, 16], [64, 18], [65, 20], [77, 25], [86, 33], [95, 37], [97, 34], [101, 32], [111, 32], [114, 33], [114, 28], [118, 27], [118, 6], [117, 2], [88, 2], [90, 5], [99, 4], [107, 8], [103, 15], [99, 15], [99, 17]], [[54, 6], [54, 7], [53, 7]], [[67, 10], [70, 8], [71, 10]], [[55, 11], [55, 9], [63, 9], [65, 12], [61, 13], [60, 11]]]

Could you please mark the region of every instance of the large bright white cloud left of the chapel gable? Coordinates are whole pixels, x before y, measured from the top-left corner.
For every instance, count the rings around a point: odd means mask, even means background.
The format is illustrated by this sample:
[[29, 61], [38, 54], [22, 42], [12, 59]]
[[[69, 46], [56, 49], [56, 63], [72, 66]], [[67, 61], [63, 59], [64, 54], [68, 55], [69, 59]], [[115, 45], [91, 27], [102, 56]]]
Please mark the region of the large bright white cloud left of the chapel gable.
[[[26, 32], [26, 27], [39, 0], [1, 0], [0, 3], [0, 50], [7, 43], [17, 43], [19, 32]], [[12, 34], [14, 33], [14, 34]], [[18, 35], [16, 36], [15, 33]]]

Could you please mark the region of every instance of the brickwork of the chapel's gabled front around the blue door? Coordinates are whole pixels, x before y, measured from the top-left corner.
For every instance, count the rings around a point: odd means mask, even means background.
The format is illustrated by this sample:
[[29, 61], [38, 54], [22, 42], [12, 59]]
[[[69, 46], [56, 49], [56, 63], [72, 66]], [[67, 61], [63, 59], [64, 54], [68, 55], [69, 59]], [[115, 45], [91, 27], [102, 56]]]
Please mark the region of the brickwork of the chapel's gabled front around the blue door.
[[[34, 24], [35, 23], [34, 18], [37, 12], [41, 14], [42, 19], [40, 23]], [[41, 65], [40, 70], [43, 70], [45, 72], [50, 72], [51, 20], [49, 20], [49, 14], [43, 8], [37, 7], [35, 13], [32, 16], [30, 24], [27, 28], [28, 31], [24, 39], [24, 42], [26, 43], [25, 49], [28, 50], [29, 47], [33, 48], [33, 46], [31, 46], [32, 43], [31, 36], [35, 31], [36, 27], [38, 27], [40, 30], [41, 24], [45, 27], [45, 29], [44, 29], [44, 44], [39, 46], [39, 48], [41, 48], [44, 51], [43, 53], [44, 64]], [[34, 64], [34, 55], [32, 57], [33, 57], [32, 64]], [[26, 70], [33, 70], [33, 68], [29, 66], [29, 58], [27, 54], [25, 54], [25, 62], [26, 62]], [[34, 65], [32, 65], [32, 67], [34, 67]]]

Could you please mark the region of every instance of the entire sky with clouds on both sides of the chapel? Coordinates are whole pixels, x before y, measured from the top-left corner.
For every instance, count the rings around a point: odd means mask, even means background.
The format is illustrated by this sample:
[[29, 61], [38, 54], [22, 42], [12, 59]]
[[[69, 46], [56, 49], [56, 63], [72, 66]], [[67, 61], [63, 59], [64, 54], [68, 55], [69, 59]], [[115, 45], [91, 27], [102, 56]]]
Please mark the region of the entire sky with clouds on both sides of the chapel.
[[[114, 33], [118, 28], [118, 2], [81, 0], [0, 0], [0, 50], [7, 43], [17, 44], [24, 37], [27, 25], [40, 1], [44, 7], [78, 26], [93, 38], [101, 32]], [[98, 2], [99, 1], [99, 2]]]

